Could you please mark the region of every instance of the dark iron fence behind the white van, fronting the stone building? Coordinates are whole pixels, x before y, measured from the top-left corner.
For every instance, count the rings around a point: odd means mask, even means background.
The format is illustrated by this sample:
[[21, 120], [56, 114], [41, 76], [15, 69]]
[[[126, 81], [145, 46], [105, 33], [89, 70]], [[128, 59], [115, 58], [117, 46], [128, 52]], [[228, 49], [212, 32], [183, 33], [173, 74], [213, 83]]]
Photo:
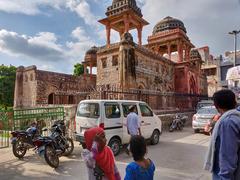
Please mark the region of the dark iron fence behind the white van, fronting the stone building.
[[207, 95], [163, 93], [151, 90], [119, 90], [108, 87], [98, 87], [88, 95], [89, 99], [125, 99], [144, 101], [157, 113], [194, 111], [200, 100], [207, 100]]

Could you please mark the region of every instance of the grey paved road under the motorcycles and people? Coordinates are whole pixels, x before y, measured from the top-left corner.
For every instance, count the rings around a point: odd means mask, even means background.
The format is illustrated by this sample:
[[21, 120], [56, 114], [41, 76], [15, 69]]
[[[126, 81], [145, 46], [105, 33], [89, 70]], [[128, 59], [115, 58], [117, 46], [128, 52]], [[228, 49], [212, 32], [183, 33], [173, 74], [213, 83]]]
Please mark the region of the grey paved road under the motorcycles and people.
[[[148, 157], [156, 165], [156, 180], [210, 180], [202, 170], [209, 136], [193, 134], [190, 128], [182, 132], [165, 132], [160, 143], [148, 146]], [[23, 160], [16, 159], [11, 149], [0, 149], [1, 180], [87, 180], [87, 171], [76, 144], [71, 157], [61, 157], [58, 169], [50, 168], [31, 150]], [[117, 166], [124, 177], [126, 165], [132, 161], [125, 153], [117, 158]]]

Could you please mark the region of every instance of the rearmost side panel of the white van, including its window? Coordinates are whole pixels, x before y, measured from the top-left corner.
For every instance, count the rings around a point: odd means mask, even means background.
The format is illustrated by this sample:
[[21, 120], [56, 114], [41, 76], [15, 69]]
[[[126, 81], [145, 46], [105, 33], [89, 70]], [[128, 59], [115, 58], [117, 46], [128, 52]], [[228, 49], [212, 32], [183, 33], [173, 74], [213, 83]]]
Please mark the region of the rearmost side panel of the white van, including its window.
[[123, 121], [121, 117], [120, 105], [117, 102], [104, 103], [104, 130], [107, 139], [113, 136], [123, 137]]

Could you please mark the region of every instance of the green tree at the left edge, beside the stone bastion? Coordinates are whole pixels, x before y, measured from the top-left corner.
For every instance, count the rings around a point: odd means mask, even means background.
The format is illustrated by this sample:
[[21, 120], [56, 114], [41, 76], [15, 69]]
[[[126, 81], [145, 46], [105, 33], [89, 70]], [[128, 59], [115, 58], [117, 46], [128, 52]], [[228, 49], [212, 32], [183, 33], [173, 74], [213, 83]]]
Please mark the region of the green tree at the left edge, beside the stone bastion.
[[16, 67], [0, 65], [0, 107], [13, 106]]

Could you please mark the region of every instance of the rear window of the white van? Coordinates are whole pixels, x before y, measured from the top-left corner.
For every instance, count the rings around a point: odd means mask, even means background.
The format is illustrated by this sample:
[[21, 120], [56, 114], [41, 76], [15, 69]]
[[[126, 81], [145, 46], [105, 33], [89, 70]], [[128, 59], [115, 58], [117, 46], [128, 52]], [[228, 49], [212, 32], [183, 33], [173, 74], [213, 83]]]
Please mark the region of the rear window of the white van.
[[77, 116], [98, 118], [99, 104], [98, 103], [81, 103], [78, 107]]

